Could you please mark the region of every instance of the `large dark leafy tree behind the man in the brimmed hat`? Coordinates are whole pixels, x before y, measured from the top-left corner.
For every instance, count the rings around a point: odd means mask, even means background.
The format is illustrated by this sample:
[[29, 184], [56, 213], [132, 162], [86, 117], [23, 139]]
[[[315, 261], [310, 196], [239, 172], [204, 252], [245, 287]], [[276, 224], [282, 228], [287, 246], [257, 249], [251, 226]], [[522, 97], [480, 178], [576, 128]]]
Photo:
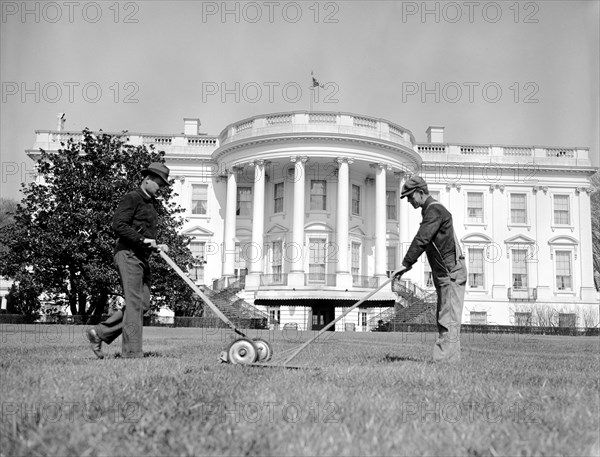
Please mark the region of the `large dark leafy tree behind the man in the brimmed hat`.
[[[109, 135], [84, 130], [82, 139], [61, 143], [55, 153], [40, 150], [41, 179], [22, 184], [24, 198], [14, 223], [0, 228], [2, 274], [16, 281], [13, 299], [42, 292], [49, 300], [66, 301], [73, 315], [101, 315], [112, 295], [121, 295], [114, 267], [112, 216], [120, 199], [142, 180], [151, 162], [164, 162], [164, 152], [127, 144], [125, 133]], [[172, 189], [158, 199], [159, 243], [184, 270], [192, 263], [189, 240], [178, 234], [182, 210], [172, 202]], [[192, 293], [158, 254], [151, 257], [152, 308], [185, 310]], [[31, 295], [30, 294], [30, 295]]]

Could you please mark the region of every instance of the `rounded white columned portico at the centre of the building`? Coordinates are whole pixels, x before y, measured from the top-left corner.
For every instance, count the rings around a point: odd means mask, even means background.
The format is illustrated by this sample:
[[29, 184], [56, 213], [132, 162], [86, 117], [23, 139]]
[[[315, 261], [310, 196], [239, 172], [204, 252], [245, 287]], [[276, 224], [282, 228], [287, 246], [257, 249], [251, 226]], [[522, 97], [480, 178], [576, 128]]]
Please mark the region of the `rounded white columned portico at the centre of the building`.
[[[311, 256], [319, 255], [329, 256], [330, 263], [322, 286], [334, 290], [355, 288], [356, 274], [353, 278], [351, 268], [351, 221], [354, 229], [366, 235], [361, 249], [372, 251], [364, 256], [369, 261], [364, 262], [362, 273], [366, 274], [361, 276], [372, 277], [371, 284], [386, 277], [388, 232], [392, 229], [398, 233], [406, 227], [397, 221], [390, 227], [386, 218], [386, 191], [395, 181], [393, 185], [399, 196], [403, 178], [419, 168], [420, 157], [411, 142], [406, 142], [412, 134], [404, 133], [400, 127], [392, 125], [394, 131], [403, 132], [393, 137], [389, 133], [390, 125], [386, 124], [387, 129], [383, 129], [379, 124], [384, 122], [379, 120], [374, 120], [369, 127], [340, 128], [333, 123], [350, 116], [331, 114], [317, 118], [328, 123], [307, 124], [305, 113], [290, 113], [278, 117], [288, 123], [271, 124], [271, 128], [245, 127], [248, 121], [241, 121], [223, 131], [221, 146], [213, 154], [220, 169], [227, 170], [223, 277], [235, 274], [236, 255], [239, 256], [236, 244], [240, 242], [237, 232], [244, 227], [251, 232], [250, 239], [244, 240], [248, 263], [245, 288], [246, 291], [260, 289], [261, 278], [268, 274], [269, 262], [273, 260], [265, 255], [264, 247], [269, 245], [265, 232], [278, 225], [282, 245], [277, 245], [277, 249], [285, 253], [283, 265], [278, 268], [285, 273], [288, 288], [319, 285], [313, 281], [316, 273], [308, 265]], [[264, 119], [253, 118], [253, 121]], [[242, 138], [237, 140], [232, 132], [237, 132], [239, 126], [243, 134], [238, 134]], [[387, 130], [385, 135], [383, 130]], [[247, 186], [252, 193], [251, 218], [240, 217], [239, 189], [247, 189]], [[270, 202], [277, 200], [275, 192], [282, 192], [286, 202], [283, 211], [273, 211]], [[317, 230], [319, 223], [322, 228]], [[320, 237], [312, 238], [317, 232]], [[323, 240], [327, 246], [319, 245], [317, 250], [328, 247], [329, 251], [315, 253], [315, 243], [322, 244]]]

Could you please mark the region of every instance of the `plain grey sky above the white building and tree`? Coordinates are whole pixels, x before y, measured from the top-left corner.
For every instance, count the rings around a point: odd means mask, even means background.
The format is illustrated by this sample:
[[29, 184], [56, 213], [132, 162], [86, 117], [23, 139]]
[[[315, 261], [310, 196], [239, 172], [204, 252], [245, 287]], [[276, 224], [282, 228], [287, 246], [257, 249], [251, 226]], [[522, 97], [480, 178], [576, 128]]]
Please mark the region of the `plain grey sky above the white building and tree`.
[[[426, 142], [600, 146], [600, 2], [0, 0], [1, 197], [36, 130], [218, 135], [281, 111], [380, 117]], [[311, 92], [311, 72], [323, 85]], [[316, 100], [311, 101], [311, 96]]]

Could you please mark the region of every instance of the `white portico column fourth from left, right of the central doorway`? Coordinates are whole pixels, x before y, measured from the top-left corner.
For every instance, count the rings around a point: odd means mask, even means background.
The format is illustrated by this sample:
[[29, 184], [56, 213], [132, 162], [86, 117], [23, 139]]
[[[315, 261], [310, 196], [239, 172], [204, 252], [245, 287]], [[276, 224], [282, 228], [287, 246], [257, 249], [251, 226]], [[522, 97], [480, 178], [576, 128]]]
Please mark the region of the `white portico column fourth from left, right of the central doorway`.
[[350, 214], [348, 207], [350, 205], [350, 171], [349, 164], [352, 160], [346, 157], [338, 157], [336, 162], [338, 167], [338, 188], [337, 188], [337, 267], [336, 273], [350, 273], [348, 267], [348, 231], [350, 223]]

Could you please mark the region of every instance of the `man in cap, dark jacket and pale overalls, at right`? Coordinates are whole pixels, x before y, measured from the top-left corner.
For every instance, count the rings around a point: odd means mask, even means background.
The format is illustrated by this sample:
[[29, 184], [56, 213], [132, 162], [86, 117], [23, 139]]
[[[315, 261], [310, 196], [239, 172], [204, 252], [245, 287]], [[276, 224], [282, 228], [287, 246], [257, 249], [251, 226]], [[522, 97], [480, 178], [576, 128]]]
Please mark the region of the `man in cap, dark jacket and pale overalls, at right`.
[[467, 283], [467, 267], [452, 225], [452, 214], [429, 195], [427, 183], [420, 176], [409, 178], [400, 198], [406, 197], [416, 209], [421, 208], [423, 221], [396, 275], [410, 270], [421, 254], [427, 254], [433, 284], [437, 292], [438, 339], [433, 360], [460, 360], [460, 325]]

